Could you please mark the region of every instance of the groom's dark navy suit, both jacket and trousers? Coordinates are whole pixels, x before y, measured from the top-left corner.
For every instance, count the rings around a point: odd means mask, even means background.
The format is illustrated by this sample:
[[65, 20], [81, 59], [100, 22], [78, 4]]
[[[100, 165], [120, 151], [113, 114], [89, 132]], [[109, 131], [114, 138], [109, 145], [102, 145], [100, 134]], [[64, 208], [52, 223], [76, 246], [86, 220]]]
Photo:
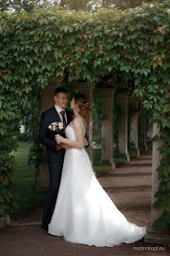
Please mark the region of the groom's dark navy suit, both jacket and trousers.
[[[73, 112], [65, 109], [67, 125], [73, 120]], [[50, 176], [50, 185], [47, 190], [42, 223], [47, 226], [51, 222], [51, 216], [56, 204], [56, 197], [60, 186], [60, 177], [65, 157], [65, 149], [56, 150], [55, 133], [48, 129], [48, 126], [55, 121], [61, 121], [55, 107], [51, 107], [46, 112], [42, 112], [39, 126], [39, 141], [46, 145], [47, 164]]]

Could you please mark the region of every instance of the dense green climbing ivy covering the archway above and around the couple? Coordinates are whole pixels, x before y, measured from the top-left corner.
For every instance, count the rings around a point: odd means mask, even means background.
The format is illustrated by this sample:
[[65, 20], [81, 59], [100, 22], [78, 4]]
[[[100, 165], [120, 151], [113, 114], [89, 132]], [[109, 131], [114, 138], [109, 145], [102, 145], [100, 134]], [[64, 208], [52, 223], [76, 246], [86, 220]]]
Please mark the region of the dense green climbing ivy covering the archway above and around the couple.
[[[1, 215], [15, 202], [10, 190], [15, 171], [11, 151], [16, 149], [20, 119], [17, 102], [26, 95], [33, 97], [35, 92], [31, 105], [35, 107], [47, 81], [66, 74], [69, 83], [81, 80], [96, 82], [96, 86], [128, 88], [151, 113], [163, 141], [159, 149], [163, 154], [158, 169], [160, 185], [154, 203], [155, 208], [163, 209], [163, 216], [154, 225], [159, 228], [158, 223], [165, 223], [170, 230], [169, 6], [167, 0], [125, 11], [87, 13], [49, 7], [33, 15], [0, 14]], [[39, 108], [34, 107], [29, 111], [37, 112]], [[36, 135], [38, 117], [37, 113], [29, 119], [29, 128], [36, 130]], [[33, 150], [32, 156], [37, 158], [39, 149]]]

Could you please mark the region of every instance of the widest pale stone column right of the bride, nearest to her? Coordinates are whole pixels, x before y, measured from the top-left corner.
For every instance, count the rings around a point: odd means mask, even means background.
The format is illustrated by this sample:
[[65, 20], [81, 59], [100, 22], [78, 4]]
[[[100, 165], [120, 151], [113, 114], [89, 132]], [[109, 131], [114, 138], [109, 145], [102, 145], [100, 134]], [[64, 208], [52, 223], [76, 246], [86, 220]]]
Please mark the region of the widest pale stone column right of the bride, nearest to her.
[[101, 89], [102, 97], [102, 115], [104, 120], [101, 125], [101, 164], [111, 166], [115, 169], [113, 160], [113, 104], [114, 104], [114, 89]]

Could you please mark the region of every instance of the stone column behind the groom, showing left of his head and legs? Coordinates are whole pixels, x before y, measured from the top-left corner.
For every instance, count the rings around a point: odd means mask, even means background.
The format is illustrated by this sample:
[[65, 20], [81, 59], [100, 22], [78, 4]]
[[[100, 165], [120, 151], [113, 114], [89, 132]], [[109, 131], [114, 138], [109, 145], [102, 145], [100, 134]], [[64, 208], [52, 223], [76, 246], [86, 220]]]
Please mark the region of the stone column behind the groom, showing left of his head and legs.
[[[48, 85], [42, 90], [42, 112], [46, 111], [50, 107], [54, 106], [54, 90], [56, 87], [60, 87], [62, 83], [62, 79], [58, 82], [49, 80]], [[46, 147], [42, 145], [43, 152], [45, 154]], [[42, 188], [47, 188], [49, 185], [49, 174], [48, 174], [48, 167], [47, 162], [42, 163]]]

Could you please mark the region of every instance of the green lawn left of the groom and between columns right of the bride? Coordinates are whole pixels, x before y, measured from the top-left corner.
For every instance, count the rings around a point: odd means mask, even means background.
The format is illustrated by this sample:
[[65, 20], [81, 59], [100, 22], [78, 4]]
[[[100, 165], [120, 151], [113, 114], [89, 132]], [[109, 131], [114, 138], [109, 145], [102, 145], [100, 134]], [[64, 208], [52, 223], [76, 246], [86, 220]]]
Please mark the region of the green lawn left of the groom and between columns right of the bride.
[[[15, 176], [13, 178], [16, 190], [20, 195], [19, 208], [15, 209], [12, 217], [16, 217], [19, 213], [25, 213], [30, 209], [37, 208], [42, 205], [45, 192], [33, 190], [35, 170], [34, 168], [29, 168], [27, 164], [27, 154], [29, 151], [29, 144], [25, 142], [19, 143], [20, 148], [17, 152], [12, 153], [16, 157], [16, 162], [18, 164]], [[135, 154], [131, 158], [136, 157]], [[101, 175], [105, 171], [110, 171], [109, 166], [100, 166], [98, 162], [101, 159], [100, 150], [93, 151], [93, 163], [94, 171], [96, 171], [96, 176]], [[119, 167], [126, 162], [125, 158], [114, 158], [116, 167]], [[41, 176], [41, 174], [40, 174]], [[41, 178], [38, 176], [38, 187], [41, 185]]]

